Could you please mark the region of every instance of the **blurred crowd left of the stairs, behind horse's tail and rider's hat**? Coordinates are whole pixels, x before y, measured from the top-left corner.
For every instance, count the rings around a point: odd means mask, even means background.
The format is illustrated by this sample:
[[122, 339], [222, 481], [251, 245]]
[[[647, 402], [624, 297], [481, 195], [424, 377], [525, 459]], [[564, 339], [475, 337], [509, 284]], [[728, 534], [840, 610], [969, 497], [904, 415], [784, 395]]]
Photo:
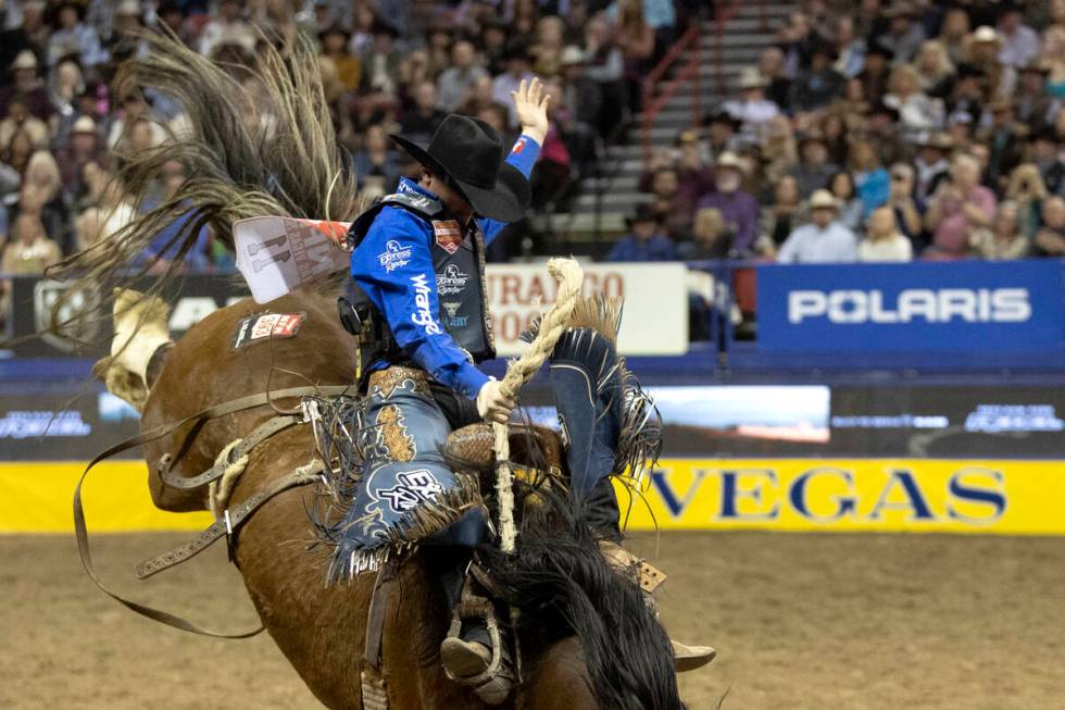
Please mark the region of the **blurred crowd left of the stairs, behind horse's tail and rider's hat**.
[[[261, 42], [310, 38], [349, 164], [367, 198], [415, 174], [388, 139], [429, 136], [449, 112], [512, 140], [511, 91], [534, 73], [552, 96], [534, 205], [565, 209], [600, 146], [638, 108], [641, 75], [698, 0], [5, 0], [0, 2], [0, 272], [40, 273], [135, 216], [124, 157], [165, 140], [180, 108], [115, 94], [137, 35], [168, 28], [201, 54], [253, 67]], [[270, 39], [274, 38], [274, 39]], [[249, 83], [249, 91], [255, 87]], [[167, 165], [151, 192], [173, 194]], [[179, 225], [175, 225], [175, 229]], [[165, 244], [164, 235], [159, 244]], [[161, 257], [149, 250], [146, 257]], [[189, 267], [231, 256], [204, 231]], [[160, 259], [159, 265], [164, 264]]]

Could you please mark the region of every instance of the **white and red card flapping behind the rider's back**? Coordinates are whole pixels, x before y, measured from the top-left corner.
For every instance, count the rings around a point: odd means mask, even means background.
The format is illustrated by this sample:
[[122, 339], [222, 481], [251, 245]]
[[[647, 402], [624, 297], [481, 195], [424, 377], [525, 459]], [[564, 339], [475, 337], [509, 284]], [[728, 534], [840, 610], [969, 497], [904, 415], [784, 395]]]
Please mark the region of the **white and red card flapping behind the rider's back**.
[[347, 222], [252, 217], [233, 225], [237, 269], [256, 303], [266, 303], [327, 275], [347, 270], [351, 254], [340, 248]]

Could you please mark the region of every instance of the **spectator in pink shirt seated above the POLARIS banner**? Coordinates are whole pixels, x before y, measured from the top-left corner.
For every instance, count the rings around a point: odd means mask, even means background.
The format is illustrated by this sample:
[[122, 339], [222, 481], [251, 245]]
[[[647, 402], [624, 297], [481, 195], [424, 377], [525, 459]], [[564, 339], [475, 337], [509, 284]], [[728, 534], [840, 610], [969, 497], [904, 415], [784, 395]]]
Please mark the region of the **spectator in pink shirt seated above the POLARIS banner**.
[[968, 250], [972, 232], [991, 225], [997, 200], [979, 180], [980, 164], [976, 158], [968, 153], [954, 158], [950, 180], [940, 184], [925, 216], [932, 233], [932, 246], [926, 256], [960, 259]]

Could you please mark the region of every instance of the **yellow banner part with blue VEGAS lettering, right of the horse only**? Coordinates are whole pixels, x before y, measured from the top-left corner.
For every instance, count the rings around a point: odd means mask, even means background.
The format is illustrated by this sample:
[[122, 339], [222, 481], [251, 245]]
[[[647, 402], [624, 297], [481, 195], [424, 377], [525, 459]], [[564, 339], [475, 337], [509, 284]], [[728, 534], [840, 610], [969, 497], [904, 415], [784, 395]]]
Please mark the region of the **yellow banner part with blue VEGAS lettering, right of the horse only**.
[[628, 530], [1065, 534], [1065, 461], [667, 459]]

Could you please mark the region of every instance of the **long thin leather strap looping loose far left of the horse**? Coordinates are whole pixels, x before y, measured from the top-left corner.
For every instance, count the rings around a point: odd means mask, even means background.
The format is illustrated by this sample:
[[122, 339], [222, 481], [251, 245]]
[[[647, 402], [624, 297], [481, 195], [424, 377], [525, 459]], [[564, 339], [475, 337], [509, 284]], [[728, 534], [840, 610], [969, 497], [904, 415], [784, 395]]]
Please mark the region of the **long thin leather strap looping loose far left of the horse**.
[[[263, 404], [268, 404], [273, 402], [275, 399], [279, 399], [283, 397], [302, 397], [305, 395], [318, 395], [318, 396], [343, 395], [348, 393], [351, 387], [349, 385], [328, 385], [322, 387], [306, 386], [306, 387], [290, 387], [288, 389], [265, 391], [265, 393], [260, 393], [258, 395], [249, 395], [248, 397], [241, 397], [239, 399], [229, 400], [222, 404], [215, 404], [213, 407], [209, 407], [202, 411], [197, 412], [196, 414], [186, 416], [185, 419], [178, 422], [152, 427], [147, 432], [141, 432], [137, 436], [130, 437], [124, 441], [120, 441], [118, 444], [115, 444], [114, 446], [108, 448], [103, 452], [97, 454], [97, 457], [93, 458], [92, 461], [90, 461], [89, 464], [85, 468], [85, 471], [82, 473], [80, 479], [78, 479], [77, 488], [75, 488], [74, 490], [74, 534], [77, 537], [78, 557], [82, 560], [82, 568], [85, 570], [85, 573], [89, 575], [89, 578], [101, 591], [103, 591], [105, 595], [108, 595], [118, 603], [123, 605], [127, 609], [138, 614], [141, 614], [142, 616], [147, 616], [148, 619], [152, 619], [162, 624], [166, 624], [167, 626], [180, 628], [183, 631], [187, 631], [193, 634], [200, 634], [201, 636], [213, 636], [216, 638], [249, 638], [262, 632], [265, 628], [265, 626], [263, 625], [260, 625], [258, 628], [253, 631], [241, 632], [236, 634], [225, 634], [222, 632], [216, 632], [211, 628], [205, 628], [197, 624], [193, 624], [192, 622], [181, 619], [180, 616], [176, 616], [170, 612], [162, 611], [160, 609], [154, 609], [152, 607], [138, 603], [130, 599], [126, 599], [115, 594], [114, 591], [111, 591], [109, 588], [106, 588], [103, 585], [103, 583], [100, 581], [100, 577], [96, 573], [96, 569], [92, 564], [92, 555], [89, 549], [89, 533], [85, 523], [85, 508], [82, 503], [82, 486], [85, 485], [85, 478], [89, 475], [89, 472], [101, 461], [104, 461], [105, 459], [109, 459], [115, 456], [116, 453], [121, 453], [134, 447], [140, 446], [141, 444], [153, 441], [158, 438], [166, 436], [167, 434], [171, 434], [172, 432], [176, 431], [180, 426], [188, 424], [190, 422], [205, 422], [216, 416], [224, 416], [225, 414], [231, 414], [234, 412], [239, 412], [246, 409], [262, 407]], [[291, 414], [293, 412], [289, 411], [286, 413]], [[293, 485], [296, 484], [293, 483], [288, 487], [292, 487]], [[248, 514], [250, 514], [250, 512], [251, 511], [246, 513], [245, 515], [246, 519]]]

